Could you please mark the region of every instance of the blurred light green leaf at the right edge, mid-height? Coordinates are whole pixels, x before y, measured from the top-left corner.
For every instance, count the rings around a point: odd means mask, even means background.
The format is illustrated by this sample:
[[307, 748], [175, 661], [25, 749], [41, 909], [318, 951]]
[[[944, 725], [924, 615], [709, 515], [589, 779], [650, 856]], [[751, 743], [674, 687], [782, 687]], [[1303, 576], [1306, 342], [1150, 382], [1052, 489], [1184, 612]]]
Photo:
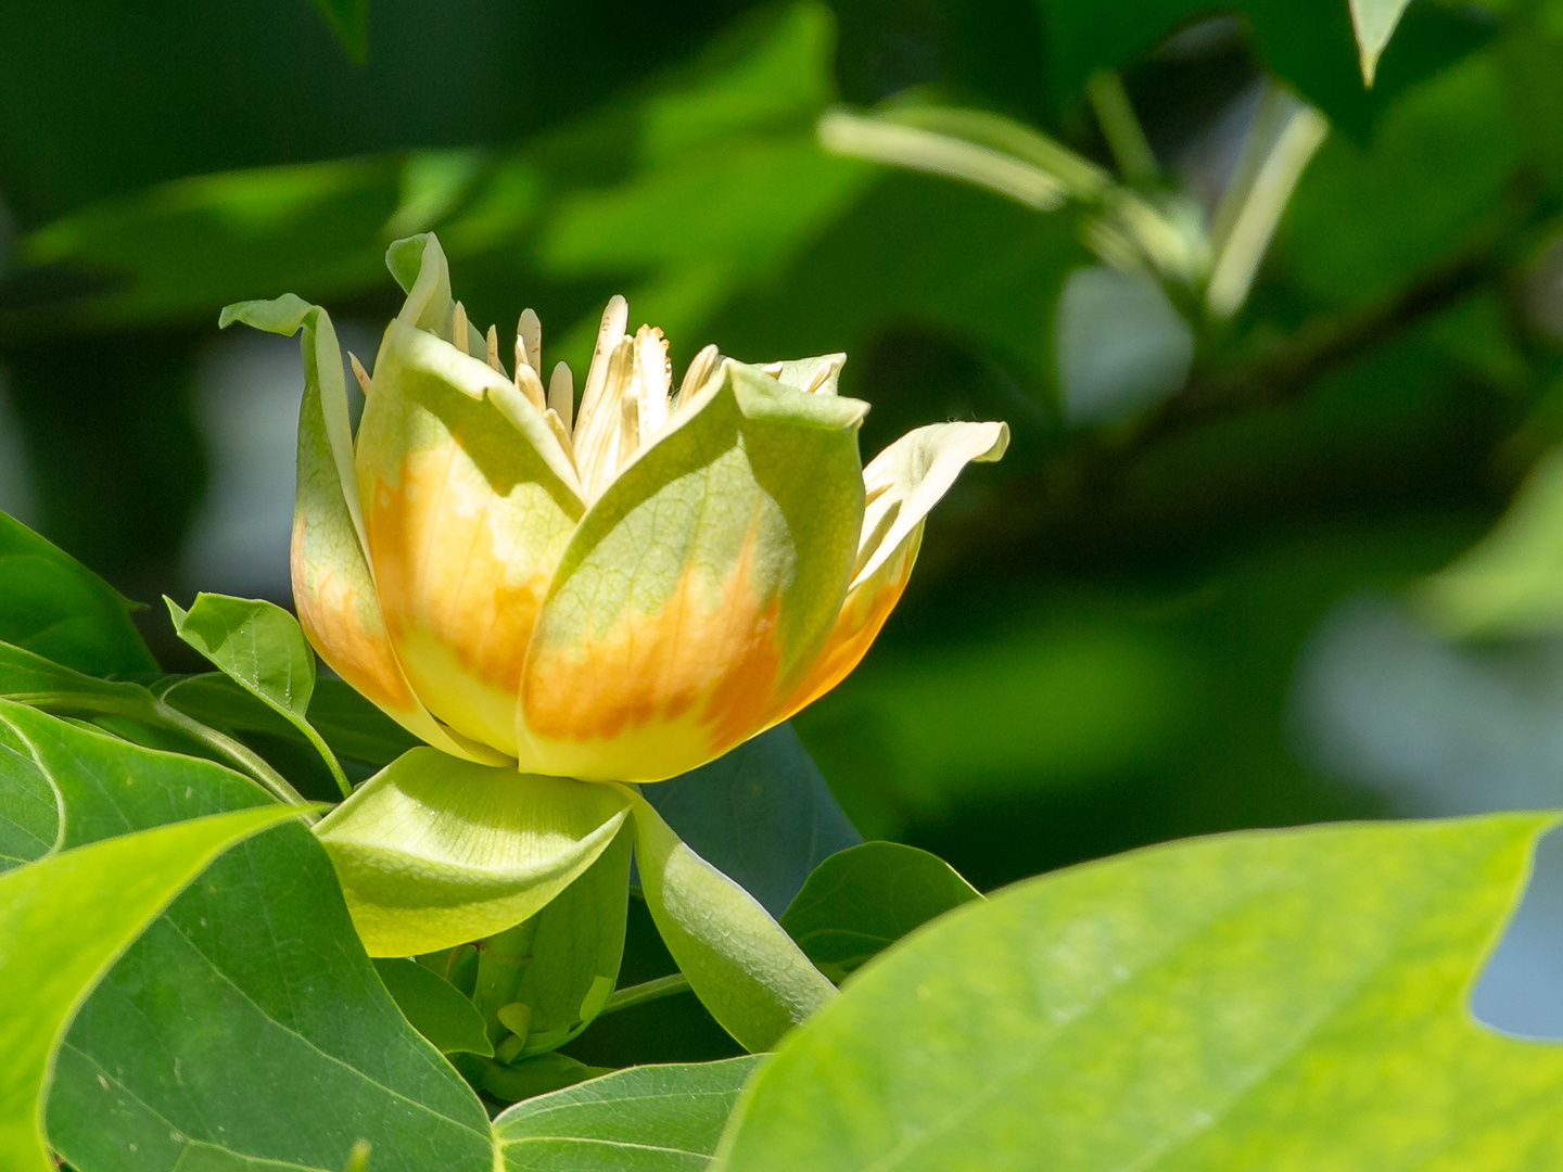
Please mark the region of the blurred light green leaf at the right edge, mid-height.
[[1430, 578], [1419, 602], [1454, 634], [1546, 634], [1563, 627], [1563, 452], [1536, 464], [1494, 530]]

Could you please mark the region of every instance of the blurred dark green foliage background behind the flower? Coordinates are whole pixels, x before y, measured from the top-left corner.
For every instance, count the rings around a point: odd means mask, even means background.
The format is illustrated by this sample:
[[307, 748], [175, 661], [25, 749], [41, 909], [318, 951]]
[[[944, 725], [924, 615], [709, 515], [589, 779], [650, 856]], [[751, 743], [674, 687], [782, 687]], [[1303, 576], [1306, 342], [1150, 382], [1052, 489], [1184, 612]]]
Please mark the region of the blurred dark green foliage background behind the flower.
[[[866, 836], [994, 888], [1241, 827], [1563, 806], [1563, 2], [1413, 0], [1371, 89], [1346, 0], [361, 19], [0, 6], [0, 508], [130, 597], [288, 602], [297, 347], [217, 311], [297, 292], [369, 361], [384, 245], [433, 228], [472, 319], [535, 306], [550, 364], [580, 373], [624, 292], [678, 369], [847, 350], [866, 455], [1010, 422], [796, 720]], [[1025, 166], [1058, 147], [1152, 227], [821, 142], [830, 109], [924, 108], [1002, 116]], [[1218, 295], [1243, 208], [1254, 275]], [[1563, 1036], [1563, 847], [1475, 1008]]]

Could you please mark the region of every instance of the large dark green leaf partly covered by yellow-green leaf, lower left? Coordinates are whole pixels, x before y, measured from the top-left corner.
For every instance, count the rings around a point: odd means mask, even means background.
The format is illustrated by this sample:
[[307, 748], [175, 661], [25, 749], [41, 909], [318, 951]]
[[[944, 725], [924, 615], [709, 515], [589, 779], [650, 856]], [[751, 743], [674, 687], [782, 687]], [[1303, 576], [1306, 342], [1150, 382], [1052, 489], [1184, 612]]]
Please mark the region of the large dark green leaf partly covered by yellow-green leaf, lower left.
[[[50, 845], [277, 809], [220, 766], [20, 705], [0, 705], [0, 792], [55, 799]], [[47, 1122], [78, 1172], [202, 1158], [339, 1172], [358, 1139], [375, 1167], [491, 1159], [480, 1103], [397, 1011], [297, 825], [225, 855], [125, 952], [59, 1050]]]

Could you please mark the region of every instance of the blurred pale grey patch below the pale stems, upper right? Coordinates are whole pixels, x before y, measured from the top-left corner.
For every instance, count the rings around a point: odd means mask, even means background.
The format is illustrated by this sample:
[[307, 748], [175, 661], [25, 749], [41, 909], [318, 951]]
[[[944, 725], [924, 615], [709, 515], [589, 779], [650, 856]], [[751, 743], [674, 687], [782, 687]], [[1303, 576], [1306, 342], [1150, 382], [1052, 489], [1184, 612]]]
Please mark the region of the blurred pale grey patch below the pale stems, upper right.
[[1075, 269], [1058, 298], [1064, 414], [1096, 423], [1166, 398], [1194, 363], [1194, 333], [1144, 272]]

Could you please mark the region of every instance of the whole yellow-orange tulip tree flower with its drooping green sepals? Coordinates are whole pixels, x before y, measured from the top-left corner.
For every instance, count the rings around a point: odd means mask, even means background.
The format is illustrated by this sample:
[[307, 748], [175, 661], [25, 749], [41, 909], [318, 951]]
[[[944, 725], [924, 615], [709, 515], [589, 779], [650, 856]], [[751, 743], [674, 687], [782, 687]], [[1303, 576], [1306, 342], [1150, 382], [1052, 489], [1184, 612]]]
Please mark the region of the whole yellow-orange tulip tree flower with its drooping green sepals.
[[[433, 234], [388, 264], [406, 303], [372, 372], [353, 359], [356, 439], [324, 309], [289, 295], [224, 311], [303, 330], [299, 620], [430, 745], [317, 827], [359, 934], [410, 955], [533, 922], [605, 859], [627, 869], [608, 849], [633, 833], [680, 967], [741, 1042], [767, 1045], [828, 981], [631, 783], [696, 769], [839, 683], [899, 600], [928, 511], [1008, 431], [919, 428], [864, 469], [867, 405], [836, 394], [844, 355], [750, 366], [706, 347], [675, 391], [667, 341], [630, 334], [622, 297], [577, 409], [566, 364], [544, 378], [530, 309], [505, 370]], [[577, 991], [600, 1005], [603, 981]]]

